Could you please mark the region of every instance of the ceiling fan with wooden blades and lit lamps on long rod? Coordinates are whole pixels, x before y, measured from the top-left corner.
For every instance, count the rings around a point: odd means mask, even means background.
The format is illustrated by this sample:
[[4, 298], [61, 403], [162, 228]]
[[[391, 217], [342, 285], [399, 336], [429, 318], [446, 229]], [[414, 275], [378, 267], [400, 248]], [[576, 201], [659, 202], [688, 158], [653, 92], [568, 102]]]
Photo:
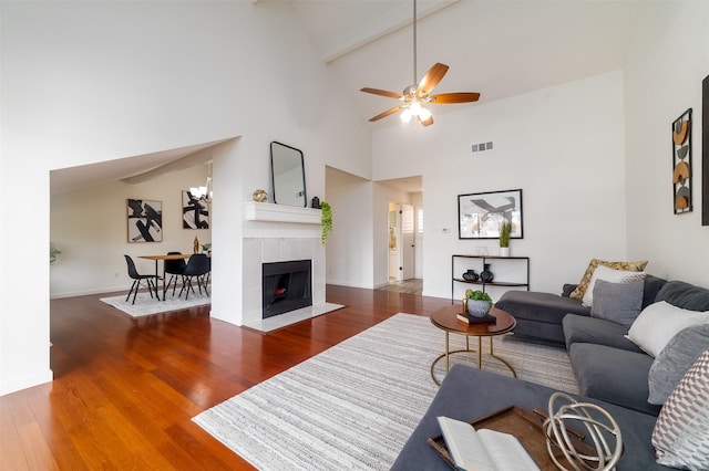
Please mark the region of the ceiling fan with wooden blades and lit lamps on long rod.
[[417, 0], [413, 0], [413, 85], [409, 85], [403, 90], [401, 94], [395, 92], [388, 92], [386, 90], [379, 88], [361, 88], [360, 92], [372, 93], [374, 95], [388, 96], [390, 98], [397, 98], [402, 101], [401, 105], [394, 106], [392, 108], [387, 109], [378, 114], [377, 116], [369, 119], [370, 122], [376, 122], [381, 118], [384, 118], [389, 115], [397, 113], [398, 111], [402, 111], [401, 119], [404, 122], [411, 121], [412, 117], [415, 117], [419, 123], [423, 126], [430, 126], [433, 124], [433, 116], [431, 112], [427, 108], [429, 104], [453, 104], [453, 103], [470, 103], [476, 102], [480, 98], [480, 93], [470, 93], [470, 92], [461, 92], [461, 93], [441, 93], [439, 95], [431, 95], [433, 88], [441, 82], [445, 73], [448, 72], [449, 66], [441, 63], [435, 63], [429, 71], [423, 75], [421, 82], [415, 84], [417, 81]]

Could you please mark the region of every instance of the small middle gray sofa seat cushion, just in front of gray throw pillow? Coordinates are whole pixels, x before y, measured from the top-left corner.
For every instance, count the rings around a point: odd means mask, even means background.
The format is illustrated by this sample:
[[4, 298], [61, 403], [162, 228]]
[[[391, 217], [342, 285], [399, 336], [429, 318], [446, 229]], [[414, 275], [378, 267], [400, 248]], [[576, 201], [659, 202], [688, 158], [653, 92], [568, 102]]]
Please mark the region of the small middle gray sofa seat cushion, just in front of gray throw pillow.
[[599, 344], [624, 350], [641, 353], [640, 347], [625, 337], [628, 326], [596, 317], [567, 314], [564, 317], [564, 336], [566, 348], [572, 344]]

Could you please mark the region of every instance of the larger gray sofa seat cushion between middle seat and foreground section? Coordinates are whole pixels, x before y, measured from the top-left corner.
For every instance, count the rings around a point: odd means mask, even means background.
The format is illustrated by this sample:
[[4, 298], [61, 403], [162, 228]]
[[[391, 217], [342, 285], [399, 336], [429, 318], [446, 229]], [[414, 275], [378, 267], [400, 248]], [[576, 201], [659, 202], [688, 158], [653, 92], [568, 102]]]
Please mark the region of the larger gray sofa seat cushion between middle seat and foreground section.
[[647, 376], [653, 357], [605, 345], [573, 344], [568, 349], [578, 390], [644, 414], [657, 415], [659, 406], [647, 401]]

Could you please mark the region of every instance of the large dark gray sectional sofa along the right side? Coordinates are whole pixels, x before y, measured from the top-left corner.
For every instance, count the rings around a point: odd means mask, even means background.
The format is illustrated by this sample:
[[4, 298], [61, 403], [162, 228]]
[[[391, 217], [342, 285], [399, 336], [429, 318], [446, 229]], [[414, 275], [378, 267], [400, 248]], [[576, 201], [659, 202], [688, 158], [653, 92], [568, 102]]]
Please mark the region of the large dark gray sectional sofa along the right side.
[[[579, 386], [578, 400], [599, 405], [620, 427], [625, 451], [618, 470], [668, 469], [656, 462], [651, 443], [660, 410], [660, 406], [648, 402], [648, 375], [654, 358], [625, 337], [628, 325], [592, 317], [589, 308], [568, 297], [572, 290], [572, 285], [565, 286], [563, 295], [510, 292], [496, 305], [513, 313], [517, 326], [522, 326], [522, 335], [566, 345]], [[643, 306], [660, 301], [689, 311], [709, 311], [709, 290], [648, 275]], [[697, 327], [702, 333], [692, 341], [692, 348], [699, 353], [709, 348], [707, 327]], [[686, 331], [690, 329], [693, 328]], [[515, 329], [515, 334], [520, 332]], [[672, 374], [676, 375], [672, 380], [678, 380], [682, 371]], [[456, 365], [446, 375], [392, 470], [449, 469], [427, 443], [429, 437], [440, 435], [438, 416], [469, 421], [511, 405], [546, 410], [553, 393], [541, 385]]]

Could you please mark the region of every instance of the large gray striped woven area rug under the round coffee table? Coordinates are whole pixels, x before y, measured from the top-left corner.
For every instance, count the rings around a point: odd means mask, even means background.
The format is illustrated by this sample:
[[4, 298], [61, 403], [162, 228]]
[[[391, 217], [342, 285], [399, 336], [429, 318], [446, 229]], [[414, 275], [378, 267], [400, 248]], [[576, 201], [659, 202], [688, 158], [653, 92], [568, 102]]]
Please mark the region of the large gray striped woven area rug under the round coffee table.
[[[428, 317], [397, 314], [193, 420], [259, 470], [387, 470], [438, 390], [430, 367], [443, 345]], [[494, 353], [520, 378], [576, 393], [564, 349], [503, 336]], [[483, 368], [511, 375], [494, 358]]]

